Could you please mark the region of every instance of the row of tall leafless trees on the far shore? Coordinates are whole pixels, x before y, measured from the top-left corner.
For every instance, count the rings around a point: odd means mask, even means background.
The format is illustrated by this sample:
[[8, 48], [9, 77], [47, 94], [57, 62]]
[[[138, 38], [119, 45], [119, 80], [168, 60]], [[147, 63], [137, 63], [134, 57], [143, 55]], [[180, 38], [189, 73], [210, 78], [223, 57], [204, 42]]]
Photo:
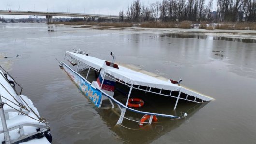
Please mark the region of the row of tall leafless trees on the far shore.
[[[216, 3], [217, 10], [213, 11]], [[162, 0], [142, 5], [133, 1], [126, 10], [119, 12], [121, 21], [256, 21], [256, 0]]]

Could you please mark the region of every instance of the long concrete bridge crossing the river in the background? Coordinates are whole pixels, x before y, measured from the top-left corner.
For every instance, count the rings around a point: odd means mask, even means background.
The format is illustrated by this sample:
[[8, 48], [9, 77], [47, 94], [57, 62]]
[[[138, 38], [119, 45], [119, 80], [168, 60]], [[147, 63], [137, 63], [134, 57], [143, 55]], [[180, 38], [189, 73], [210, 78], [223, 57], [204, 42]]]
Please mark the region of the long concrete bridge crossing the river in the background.
[[0, 15], [38, 15], [46, 16], [47, 22], [53, 22], [53, 16], [66, 16], [66, 17], [96, 17], [104, 19], [119, 19], [116, 15], [103, 15], [103, 14], [83, 14], [83, 13], [67, 13], [67, 12], [38, 12], [38, 11], [6, 11], [0, 10]]

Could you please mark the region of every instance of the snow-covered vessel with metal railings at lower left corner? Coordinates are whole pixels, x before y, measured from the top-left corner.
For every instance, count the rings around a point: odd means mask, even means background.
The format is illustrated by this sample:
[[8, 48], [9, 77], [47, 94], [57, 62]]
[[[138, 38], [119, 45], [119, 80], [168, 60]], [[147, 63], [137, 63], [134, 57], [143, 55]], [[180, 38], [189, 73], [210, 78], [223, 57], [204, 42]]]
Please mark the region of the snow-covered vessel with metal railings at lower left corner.
[[27, 96], [21, 95], [22, 87], [13, 77], [0, 68], [0, 142], [51, 144], [50, 126], [46, 119], [40, 117]]

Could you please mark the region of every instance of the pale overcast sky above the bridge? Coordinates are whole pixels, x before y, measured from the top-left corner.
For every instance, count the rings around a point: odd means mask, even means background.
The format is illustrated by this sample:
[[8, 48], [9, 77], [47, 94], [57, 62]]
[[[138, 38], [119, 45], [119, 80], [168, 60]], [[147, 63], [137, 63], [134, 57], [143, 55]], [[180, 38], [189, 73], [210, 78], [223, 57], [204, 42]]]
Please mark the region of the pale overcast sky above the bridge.
[[[118, 15], [133, 0], [0, 0], [0, 10], [74, 12], [88, 14]], [[148, 5], [162, 0], [140, 0]], [[207, 1], [207, 0], [206, 0]], [[5, 18], [28, 18], [28, 16], [0, 15]]]

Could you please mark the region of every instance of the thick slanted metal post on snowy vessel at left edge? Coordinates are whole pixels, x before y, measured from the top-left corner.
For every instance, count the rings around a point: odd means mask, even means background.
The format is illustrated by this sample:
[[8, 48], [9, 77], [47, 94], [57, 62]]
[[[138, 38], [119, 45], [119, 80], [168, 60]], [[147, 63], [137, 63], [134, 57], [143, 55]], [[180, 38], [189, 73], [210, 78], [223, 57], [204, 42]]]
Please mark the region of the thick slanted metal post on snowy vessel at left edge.
[[5, 115], [4, 115], [4, 110], [3, 110], [3, 102], [2, 102], [1, 94], [0, 94], [0, 105], [2, 107], [0, 109], [0, 116], [1, 116], [2, 126], [3, 126], [4, 141], [5, 141], [5, 144], [11, 144], [9, 131], [8, 131], [6, 120], [5, 120]]

